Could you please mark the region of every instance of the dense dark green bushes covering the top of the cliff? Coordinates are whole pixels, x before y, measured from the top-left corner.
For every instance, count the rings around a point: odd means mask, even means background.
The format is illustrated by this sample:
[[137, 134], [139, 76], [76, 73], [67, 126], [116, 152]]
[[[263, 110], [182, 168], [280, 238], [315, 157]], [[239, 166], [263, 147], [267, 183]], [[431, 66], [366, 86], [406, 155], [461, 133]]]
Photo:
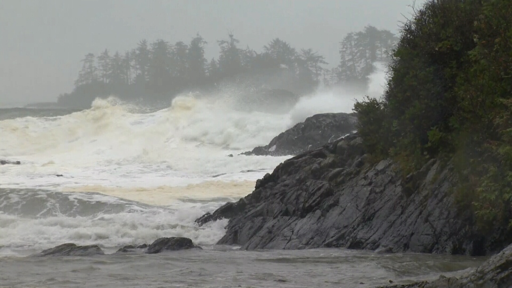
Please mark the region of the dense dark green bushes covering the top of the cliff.
[[367, 149], [406, 172], [453, 159], [461, 207], [510, 235], [512, 3], [429, 0], [404, 24], [389, 72], [382, 99], [354, 106]]

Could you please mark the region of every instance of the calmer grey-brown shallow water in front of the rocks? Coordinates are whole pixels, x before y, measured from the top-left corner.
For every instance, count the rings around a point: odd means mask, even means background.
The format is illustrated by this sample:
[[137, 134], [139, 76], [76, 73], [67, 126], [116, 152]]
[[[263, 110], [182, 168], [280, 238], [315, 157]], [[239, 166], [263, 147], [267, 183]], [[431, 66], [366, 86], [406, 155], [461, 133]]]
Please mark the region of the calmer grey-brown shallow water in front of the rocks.
[[153, 255], [2, 257], [8, 287], [371, 287], [437, 278], [483, 259], [345, 249], [239, 251], [209, 246]]

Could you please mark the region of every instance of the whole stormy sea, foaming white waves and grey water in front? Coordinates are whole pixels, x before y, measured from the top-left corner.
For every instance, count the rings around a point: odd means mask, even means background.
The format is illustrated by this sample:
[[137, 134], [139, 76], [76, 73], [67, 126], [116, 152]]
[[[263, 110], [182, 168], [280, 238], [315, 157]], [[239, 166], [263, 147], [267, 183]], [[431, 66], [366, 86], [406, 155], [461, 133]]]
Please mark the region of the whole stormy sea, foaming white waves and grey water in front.
[[[183, 94], [158, 109], [115, 97], [85, 110], [0, 107], [0, 159], [20, 162], [0, 165], [0, 287], [372, 287], [484, 260], [216, 245], [227, 220], [198, 227], [195, 219], [247, 195], [289, 158], [240, 153], [315, 113], [353, 105], [318, 93], [268, 113], [237, 109], [233, 99]], [[203, 250], [115, 253], [172, 236]], [[98, 245], [105, 255], [32, 256], [63, 243]]]

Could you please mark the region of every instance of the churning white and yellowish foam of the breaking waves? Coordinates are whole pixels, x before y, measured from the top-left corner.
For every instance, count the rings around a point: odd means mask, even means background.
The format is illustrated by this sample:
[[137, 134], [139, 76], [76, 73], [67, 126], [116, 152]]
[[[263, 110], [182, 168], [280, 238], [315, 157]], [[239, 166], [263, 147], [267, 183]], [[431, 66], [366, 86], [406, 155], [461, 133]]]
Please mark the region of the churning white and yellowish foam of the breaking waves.
[[[371, 89], [378, 90], [372, 83]], [[79, 199], [112, 204], [119, 197], [158, 205], [85, 216], [18, 216], [0, 210], [0, 247], [15, 254], [24, 247], [41, 250], [65, 242], [118, 247], [167, 236], [214, 244], [227, 222], [199, 228], [194, 220], [226, 198], [235, 201], [250, 193], [255, 180], [288, 158], [239, 153], [266, 145], [314, 114], [351, 112], [362, 95], [318, 91], [282, 115], [233, 109], [232, 103], [240, 103], [233, 101], [233, 91], [216, 97], [180, 95], [170, 107], [152, 113], [111, 97], [66, 116], [0, 121], [0, 159], [22, 162], [0, 165], [0, 188], [73, 192], [69, 200], [75, 204], [82, 203]], [[11, 197], [19, 203], [26, 199]]]

